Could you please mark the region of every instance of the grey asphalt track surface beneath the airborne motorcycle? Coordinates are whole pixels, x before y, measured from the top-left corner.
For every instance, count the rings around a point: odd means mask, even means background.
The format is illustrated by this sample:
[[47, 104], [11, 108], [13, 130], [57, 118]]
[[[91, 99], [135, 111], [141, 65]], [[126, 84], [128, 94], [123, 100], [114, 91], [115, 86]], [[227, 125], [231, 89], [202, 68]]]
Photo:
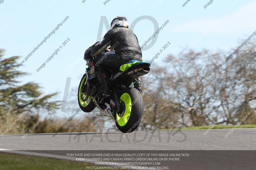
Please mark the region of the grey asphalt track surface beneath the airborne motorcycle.
[[[230, 130], [231, 129], [212, 129], [207, 135], [203, 135], [206, 130], [182, 130], [174, 137], [172, 136], [174, 131], [171, 130], [159, 130], [154, 134], [151, 134], [151, 131], [135, 131], [130, 134], [120, 132], [108, 132], [105, 134], [100, 132], [86, 132], [82, 133], [82, 135], [76, 139], [74, 139], [76, 133], [60, 133], [55, 137], [52, 137], [53, 134], [31, 134], [24, 139], [22, 138], [23, 135], [4, 135], [0, 137], [0, 150], [4, 152], [69, 160], [75, 160], [75, 158], [64, 156], [65, 154], [61, 154], [61, 150], [168, 150], [174, 152], [175, 150], [182, 150], [190, 151], [190, 153], [194, 152], [196, 157], [186, 159], [186, 162], [183, 162], [182, 165], [180, 165], [180, 162], [169, 162], [164, 165], [172, 165], [173, 169], [177, 167], [179, 167], [178, 169], [186, 169], [188, 167], [189, 169], [255, 168], [256, 129], [235, 129], [233, 134], [229, 137], [224, 137]], [[47, 150], [47, 152], [43, 152], [43, 150]], [[49, 150], [55, 152], [49, 152]], [[57, 152], [57, 150], [59, 152]], [[211, 159], [207, 159], [205, 164], [203, 158], [206, 155], [209, 156], [209, 152], [207, 153], [203, 150], [213, 151], [210, 155]], [[214, 150], [219, 151], [214, 152]], [[222, 152], [220, 154], [220, 150], [228, 152]], [[232, 152], [230, 150], [236, 151]], [[232, 159], [229, 159], [227, 162], [227, 154], [225, 155], [225, 153], [230, 152], [232, 152]], [[176, 153], [178, 153], [178, 151], [176, 151]], [[199, 164], [197, 160], [200, 156], [202, 160]], [[252, 160], [250, 158], [252, 158]], [[219, 161], [224, 159], [225, 161], [221, 164]], [[92, 163], [92, 161], [84, 162]], [[200, 168], [196, 167], [197, 164], [200, 165]]]

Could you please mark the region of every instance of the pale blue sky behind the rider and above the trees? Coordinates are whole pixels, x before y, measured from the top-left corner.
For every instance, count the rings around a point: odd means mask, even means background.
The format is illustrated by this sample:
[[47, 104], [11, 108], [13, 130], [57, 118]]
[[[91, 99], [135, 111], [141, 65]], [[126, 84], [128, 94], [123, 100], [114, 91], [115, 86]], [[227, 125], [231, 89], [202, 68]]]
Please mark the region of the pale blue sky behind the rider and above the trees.
[[[20, 62], [57, 24], [69, 17], [19, 68], [31, 73], [20, 80], [24, 83], [39, 83], [44, 89], [52, 85], [49, 92], [60, 92], [58, 100], [62, 100], [67, 77], [72, 78], [70, 89], [77, 88], [79, 78], [84, 74], [85, 61], [82, 56], [85, 49], [97, 39], [101, 16], [105, 16], [109, 23], [116, 16], [126, 16], [130, 25], [133, 20], [145, 15], [155, 18], [159, 26], [169, 20], [160, 31], [154, 46], [142, 51], [143, 60], [149, 61], [169, 41], [171, 46], [161, 53], [156, 60], [158, 64], [168, 54], [177, 56], [182, 47], [193, 44], [206, 29], [205, 35], [193, 46], [196, 50], [211, 48], [214, 42], [220, 41], [218, 48], [228, 51], [238, 45], [239, 39], [248, 37], [256, 30], [253, 18], [256, 14], [256, 2], [252, 0], [214, 0], [206, 9], [203, 5], [209, 1], [191, 0], [185, 7], [182, 6], [185, 0], [111, 0], [106, 5], [103, 2], [105, 1], [86, 0], [82, 3], [82, 0], [4, 0], [0, 4], [0, 48], [7, 50], [5, 57], [21, 56]], [[108, 30], [103, 26], [102, 35], [106, 31]], [[133, 31], [142, 45], [154, 33], [154, 26], [149, 20], [141, 20]], [[67, 38], [70, 41], [58, 55], [36, 72]], [[70, 67], [74, 62], [74, 66]]]

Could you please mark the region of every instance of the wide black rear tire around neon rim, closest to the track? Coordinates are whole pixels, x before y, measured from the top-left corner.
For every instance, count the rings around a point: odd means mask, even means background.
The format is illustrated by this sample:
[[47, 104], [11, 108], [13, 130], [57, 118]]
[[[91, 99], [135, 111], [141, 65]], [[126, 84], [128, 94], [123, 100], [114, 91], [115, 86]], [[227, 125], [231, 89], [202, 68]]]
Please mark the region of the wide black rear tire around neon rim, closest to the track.
[[[131, 113], [129, 116], [128, 121], [126, 122], [126, 124], [122, 124], [122, 120], [121, 123], [119, 123], [118, 119], [120, 119], [120, 117], [117, 115], [117, 113], [115, 113], [115, 122], [116, 122], [116, 127], [123, 133], [131, 133], [133, 132], [135, 129], [138, 128], [138, 126], [140, 125], [140, 121], [141, 121], [141, 116], [143, 113], [143, 107], [144, 107], [144, 103], [143, 103], [143, 98], [140, 94], [140, 92], [135, 89], [135, 88], [128, 88], [125, 89], [122, 94], [120, 94], [118, 96], [118, 98], [120, 99], [120, 97], [124, 94], [127, 95], [125, 93], [128, 93], [130, 95], [131, 98]], [[128, 96], [127, 96], [128, 97]], [[128, 97], [129, 98], [129, 97]], [[121, 99], [120, 99], [121, 100]], [[124, 102], [123, 102], [124, 103]], [[129, 107], [128, 107], [129, 108]], [[130, 109], [130, 108], [129, 108]], [[128, 110], [129, 110], [128, 109]], [[124, 113], [126, 113], [125, 109], [124, 109]], [[124, 116], [123, 116], [124, 117]], [[125, 119], [125, 117], [124, 117]]]

